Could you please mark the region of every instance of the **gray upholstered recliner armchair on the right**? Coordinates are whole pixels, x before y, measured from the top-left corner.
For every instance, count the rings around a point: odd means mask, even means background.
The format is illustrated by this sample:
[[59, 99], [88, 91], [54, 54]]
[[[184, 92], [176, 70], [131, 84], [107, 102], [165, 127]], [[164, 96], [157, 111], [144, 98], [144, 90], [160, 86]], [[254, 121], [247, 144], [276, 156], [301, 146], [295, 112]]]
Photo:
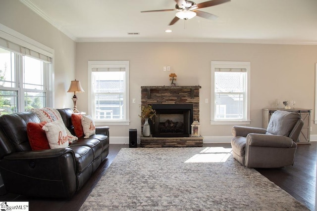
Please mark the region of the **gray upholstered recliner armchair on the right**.
[[232, 155], [249, 168], [280, 168], [294, 164], [301, 129], [304, 125], [296, 112], [275, 111], [266, 129], [234, 126]]

